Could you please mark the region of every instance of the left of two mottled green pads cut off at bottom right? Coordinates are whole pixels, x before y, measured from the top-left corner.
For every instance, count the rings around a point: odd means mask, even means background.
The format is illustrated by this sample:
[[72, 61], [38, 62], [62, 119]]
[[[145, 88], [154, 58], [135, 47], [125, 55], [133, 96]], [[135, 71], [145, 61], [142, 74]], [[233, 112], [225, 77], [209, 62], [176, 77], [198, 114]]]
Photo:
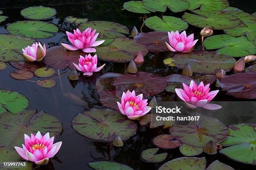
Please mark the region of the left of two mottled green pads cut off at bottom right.
[[205, 170], [206, 159], [196, 157], [182, 157], [164, 163], [159, 170]]

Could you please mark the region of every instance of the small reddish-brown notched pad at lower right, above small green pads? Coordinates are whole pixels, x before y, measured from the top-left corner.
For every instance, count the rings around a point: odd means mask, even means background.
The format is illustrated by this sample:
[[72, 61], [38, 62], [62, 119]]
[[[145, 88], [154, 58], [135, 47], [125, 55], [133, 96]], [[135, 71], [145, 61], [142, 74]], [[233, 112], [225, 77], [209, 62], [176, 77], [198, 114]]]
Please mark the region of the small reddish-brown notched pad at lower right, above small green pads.
[[153, 143], [161, 149], [174, 149], [179, 147], [181, 143], [178, 140], [173, 140], [172, 135], [159, 135], [154, 138]]

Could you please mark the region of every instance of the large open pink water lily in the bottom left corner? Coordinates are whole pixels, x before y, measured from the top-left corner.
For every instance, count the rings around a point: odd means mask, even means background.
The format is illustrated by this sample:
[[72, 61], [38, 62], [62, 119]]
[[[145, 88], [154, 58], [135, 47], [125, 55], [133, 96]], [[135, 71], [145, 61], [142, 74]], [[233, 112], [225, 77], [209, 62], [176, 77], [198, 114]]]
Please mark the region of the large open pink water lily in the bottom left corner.
[[31, 133], [31, 137], [24, 134], [25, 145], [23, 148], [15, 146], [15, 150], [24, 160], [35, 162], [38, 165], [47, 164], [49, 158], [54, 157], [59, 151], [62, 142], [54, 142], [54, 137], [50, 138], [49, 133], [44, 136], [38, 131], [36, 136]]

